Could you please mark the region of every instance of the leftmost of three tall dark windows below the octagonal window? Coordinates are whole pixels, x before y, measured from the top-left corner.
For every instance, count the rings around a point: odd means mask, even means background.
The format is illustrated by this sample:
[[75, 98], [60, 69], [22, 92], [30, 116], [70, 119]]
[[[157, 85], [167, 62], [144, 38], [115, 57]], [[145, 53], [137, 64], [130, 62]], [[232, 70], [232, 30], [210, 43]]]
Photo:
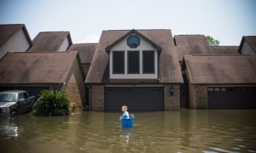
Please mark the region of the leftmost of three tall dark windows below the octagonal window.
[[124, 73], [124, 52], [113, 52], [113, 73]]

